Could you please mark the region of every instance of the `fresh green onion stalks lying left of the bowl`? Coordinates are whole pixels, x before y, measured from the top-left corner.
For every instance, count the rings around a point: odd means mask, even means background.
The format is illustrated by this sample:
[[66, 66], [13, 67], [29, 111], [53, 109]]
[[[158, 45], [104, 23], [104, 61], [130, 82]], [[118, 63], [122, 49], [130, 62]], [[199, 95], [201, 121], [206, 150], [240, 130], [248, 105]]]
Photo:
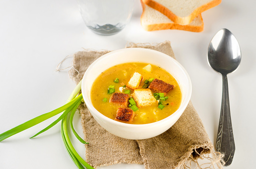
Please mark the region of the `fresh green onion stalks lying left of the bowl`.
[[71, 93], [69, 99], [67, 100], [67, 103], [53, 111], [44, 113], [42, 115], [39, 115], [27, 122], [24, 122], [6, 132], [3, 132], [2, 134], [0, 134], [0, 141], [3, 141], [4, 139], [17, 134], [23, 130], [26, 130], [42, 121], [45, 121], [46, 119], [49, 119], [61, 112], [63, 112], [59, 118], [57, 118], [54, 122], [52, 122], [50, 125], [48, 125], [46, 128], [42, 129], [41, 131], [39, 131], [38, 133], [36, 133], [35, 135], [33, 135], [30, 138], [33, 138], [43, 132], [45, 132], [46, 130], [50, 129], [52, 126], [54, 126], [55, 124], [57, 124], [59, 121], [61, 121], [61, 133], [62, 133], [62, 139], [64, 142], [64, 145], [71, 157], [71, 159], [74, 161], [74, 163], [77, 165], [77, 167], [79, 169], [84, 169], [85, 167], [88, 169], [93, 168], [91, 165], [89, 165], [76, 151], [76, 149], [74, 148], [70, 137], [69, 137], [69, 133], [68, 133], [68, 114], [70, 114], [69, 116], [69, 120], [70, 120], [70, 127], [74, 133], [74, 135], [78, 138], [78, 140], [84, 144], [88, 144], [88, 142], [86, 142], [84, 139], [82, 139], [78, 133], [75, 131], [74, 126], [73, 126], [73, 117], [74, 114], [78, 108], [78, 106], [81, 104], [81, 102], [83, 101], [83, 96], [82, 94], [78, 94], [81, 91], [81, 84], [82, 81], [80, 81], [77, 86], [75, 87], [75, 89], [73, 90], [73, 92]]

